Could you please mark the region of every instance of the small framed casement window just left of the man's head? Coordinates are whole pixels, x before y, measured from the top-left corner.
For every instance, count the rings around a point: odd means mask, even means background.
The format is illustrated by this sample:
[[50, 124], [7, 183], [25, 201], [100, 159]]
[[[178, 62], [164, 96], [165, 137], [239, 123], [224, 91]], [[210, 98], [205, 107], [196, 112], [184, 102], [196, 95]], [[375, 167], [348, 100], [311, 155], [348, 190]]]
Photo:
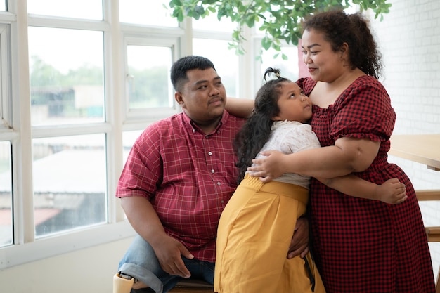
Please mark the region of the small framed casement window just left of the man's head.
[[169, 78], [176, 40], [127, 36], [125, 48], [127, 121], [153, 122], [178, 112]]

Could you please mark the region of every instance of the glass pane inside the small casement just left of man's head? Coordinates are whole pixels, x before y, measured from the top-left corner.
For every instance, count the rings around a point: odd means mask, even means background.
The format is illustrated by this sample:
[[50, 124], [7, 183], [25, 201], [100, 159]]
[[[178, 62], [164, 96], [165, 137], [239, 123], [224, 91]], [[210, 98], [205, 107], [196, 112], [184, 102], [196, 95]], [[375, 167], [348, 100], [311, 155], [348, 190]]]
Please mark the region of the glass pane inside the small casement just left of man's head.
[[129, 108], [172, 107], [169, 47], [127, 46]]

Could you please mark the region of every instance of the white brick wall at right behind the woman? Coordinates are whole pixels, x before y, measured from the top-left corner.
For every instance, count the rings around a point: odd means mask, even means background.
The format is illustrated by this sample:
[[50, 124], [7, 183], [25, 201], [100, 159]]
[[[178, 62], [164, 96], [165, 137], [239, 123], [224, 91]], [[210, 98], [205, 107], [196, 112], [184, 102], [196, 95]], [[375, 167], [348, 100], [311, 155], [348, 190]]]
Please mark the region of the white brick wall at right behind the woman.
[[[391, 0], [384, 20], [373, 20], [382, 51], [381, 81], [396, 110], [394, 134], [440, 133], [440, 1]], [[440, 150], [439, 150], [440, 152]], [[440, 171], [389, 157], [408, 174], [416, 189], [440, 189]], [[440, 226], [440, 202], [421, 202], [427, 226]], [[440, 242], [430, 243], [434, 273]]]

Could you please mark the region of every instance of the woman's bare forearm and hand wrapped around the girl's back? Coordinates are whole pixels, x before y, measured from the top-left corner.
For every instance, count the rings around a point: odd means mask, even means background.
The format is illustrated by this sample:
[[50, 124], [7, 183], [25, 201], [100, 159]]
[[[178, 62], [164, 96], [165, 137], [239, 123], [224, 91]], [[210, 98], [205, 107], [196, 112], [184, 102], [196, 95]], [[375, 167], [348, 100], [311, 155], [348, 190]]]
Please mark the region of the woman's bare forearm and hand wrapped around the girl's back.
[[262, 152], [255, 165], [247, 168], [250, 175], [271, 181], [284, 173], [297, 173], [315, 178], [335, 178], [370, 167], [379, 151], [380, 141], [343, 137], [335, 145], [302, 150], [290, 155], [269, 150]]

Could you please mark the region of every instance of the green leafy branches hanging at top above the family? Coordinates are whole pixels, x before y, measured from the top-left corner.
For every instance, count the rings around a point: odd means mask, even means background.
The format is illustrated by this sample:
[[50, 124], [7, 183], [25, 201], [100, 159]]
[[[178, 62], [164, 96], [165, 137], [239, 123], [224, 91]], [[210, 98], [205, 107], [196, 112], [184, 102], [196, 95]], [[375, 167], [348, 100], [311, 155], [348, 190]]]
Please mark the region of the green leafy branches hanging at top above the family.
[[[265, 35], [261, 40], [262, 48], [280, 51], [282, 41], [298, 44], [301, 21], [311, 13], [358, 5], [361, 11], [371, 9], [375, 18], [383, 20], [383, 15], [389, 13], [392, 6], [387, 1], [389, 0], [170, 0], [168, 6], [172, 16], [179, 22], [183, 22], [186, 17], [198, 20], [213, 13], [218, 20], [229, 18], [240, 28], [242, 25], [256, 27]], [[245, 38], [241, 35], [241, 29], [234, 31], [231, 39], [234, 44], [231, 49], [235, 49], [236, 53], [243, 53], [242, 42]], [[284, 58], [283, 55], [281, 57]]]

